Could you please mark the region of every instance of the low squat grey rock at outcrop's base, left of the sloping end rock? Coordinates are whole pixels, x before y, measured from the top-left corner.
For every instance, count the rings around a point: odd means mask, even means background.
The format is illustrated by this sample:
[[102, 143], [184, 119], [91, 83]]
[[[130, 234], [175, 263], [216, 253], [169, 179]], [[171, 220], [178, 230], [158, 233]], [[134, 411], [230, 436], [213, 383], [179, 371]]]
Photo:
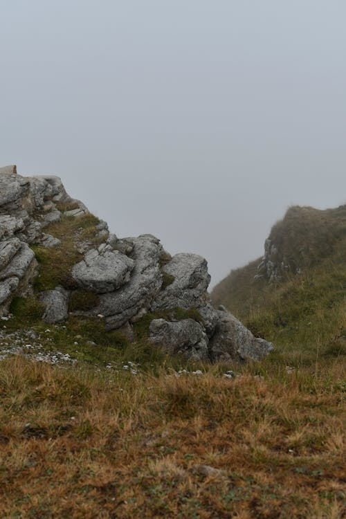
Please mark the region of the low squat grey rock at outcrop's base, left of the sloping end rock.
[[154, 319], [149, 326], [149, 340], [168, 354], [184, 354], [194, 360], [208, 358], [208, 338], [203, 327], [193, 319], [169, 322]]

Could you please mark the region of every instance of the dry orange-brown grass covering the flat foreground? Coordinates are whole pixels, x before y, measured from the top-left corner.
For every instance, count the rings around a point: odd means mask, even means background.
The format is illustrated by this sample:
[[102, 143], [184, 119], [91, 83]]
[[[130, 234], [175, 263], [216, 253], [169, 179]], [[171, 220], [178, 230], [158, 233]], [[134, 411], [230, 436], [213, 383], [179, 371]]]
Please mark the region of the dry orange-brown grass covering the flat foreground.
[[341, 519], [345, 368], [318, 368], [232, 381], [8, 359], [0, 516]]

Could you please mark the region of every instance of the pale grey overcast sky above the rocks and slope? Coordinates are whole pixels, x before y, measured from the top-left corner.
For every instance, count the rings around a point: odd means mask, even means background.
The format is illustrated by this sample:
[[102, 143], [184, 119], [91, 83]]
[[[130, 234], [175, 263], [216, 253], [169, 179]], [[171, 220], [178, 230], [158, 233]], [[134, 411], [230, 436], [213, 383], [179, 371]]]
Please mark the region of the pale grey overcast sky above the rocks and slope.
[[118, 236], [262, 255], [346, 203], [345, 0], [0, 0], [0, 165], [57, 174]]

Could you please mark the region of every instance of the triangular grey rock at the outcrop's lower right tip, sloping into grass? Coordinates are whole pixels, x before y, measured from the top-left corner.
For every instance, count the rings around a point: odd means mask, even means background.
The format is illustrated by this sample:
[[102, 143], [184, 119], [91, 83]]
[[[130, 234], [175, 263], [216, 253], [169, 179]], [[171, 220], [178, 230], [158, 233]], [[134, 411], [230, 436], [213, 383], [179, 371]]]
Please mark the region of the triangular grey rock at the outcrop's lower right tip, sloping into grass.
[[231, 313], [218, 311], [219, 322], [215, 334], [210, 339], [210, 352], [214, 360], [262, 361], [272, 352], [272, 343], [256, 338], [242, 322]]

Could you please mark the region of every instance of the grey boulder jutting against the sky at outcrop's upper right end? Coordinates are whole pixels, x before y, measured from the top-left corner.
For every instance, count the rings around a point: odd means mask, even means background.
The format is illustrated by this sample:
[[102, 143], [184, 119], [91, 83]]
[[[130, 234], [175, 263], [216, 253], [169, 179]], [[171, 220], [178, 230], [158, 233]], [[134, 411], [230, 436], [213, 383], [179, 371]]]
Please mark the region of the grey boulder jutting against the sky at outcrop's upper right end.
[[176, 254], [163, 266], [162, 271], [174, 277], [152, 304], [153, 311], [174, 307], [201, 306], [201, 296], [210, 283], [208, 264], [197, 254]]

